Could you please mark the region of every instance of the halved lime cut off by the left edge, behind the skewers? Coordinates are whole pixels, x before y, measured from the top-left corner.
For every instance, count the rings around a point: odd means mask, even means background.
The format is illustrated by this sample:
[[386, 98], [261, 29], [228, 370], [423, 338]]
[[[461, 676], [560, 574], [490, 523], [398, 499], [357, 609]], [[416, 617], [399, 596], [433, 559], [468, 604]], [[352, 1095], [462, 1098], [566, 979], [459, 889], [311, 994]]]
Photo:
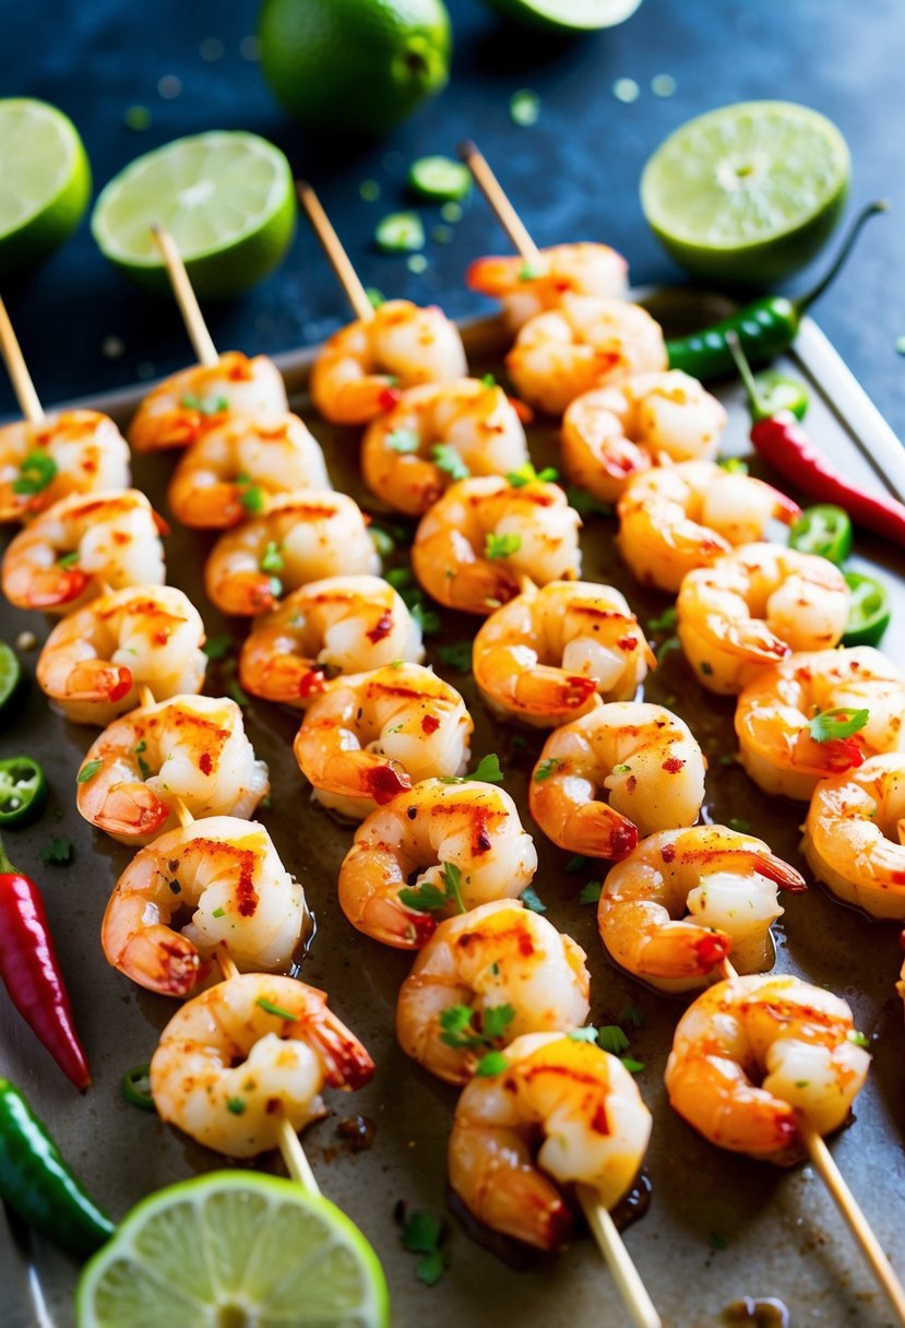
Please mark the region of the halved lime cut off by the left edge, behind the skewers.
[[62, 244], [90, 193], [73, 122], [45, 101], [0, 101], [0, 276], [33, 267]]

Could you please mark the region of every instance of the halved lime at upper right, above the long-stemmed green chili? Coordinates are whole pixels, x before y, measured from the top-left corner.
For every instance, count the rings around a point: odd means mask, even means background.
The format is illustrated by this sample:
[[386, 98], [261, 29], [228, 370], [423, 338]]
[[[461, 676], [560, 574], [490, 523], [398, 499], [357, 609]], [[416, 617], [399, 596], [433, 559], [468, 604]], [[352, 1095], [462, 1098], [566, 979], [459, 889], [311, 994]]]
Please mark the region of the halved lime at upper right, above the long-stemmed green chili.
[[768, 286], [804, 267], [848, 191], [845, 139], [788, 101], [746, 101], [677, 129], [641, 177], [644, 214], [695, 276]]

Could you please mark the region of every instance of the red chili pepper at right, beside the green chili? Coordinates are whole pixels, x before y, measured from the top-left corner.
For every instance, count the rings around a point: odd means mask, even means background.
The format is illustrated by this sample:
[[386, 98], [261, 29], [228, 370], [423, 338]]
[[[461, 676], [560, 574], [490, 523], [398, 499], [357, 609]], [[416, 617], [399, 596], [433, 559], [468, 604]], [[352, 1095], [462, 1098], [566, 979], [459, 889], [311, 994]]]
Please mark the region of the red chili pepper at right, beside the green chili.
[[827, 461], [791, 410], [767, 414], [758, 400], [738, 336], [727, 333], [726, 340], [748, 394], [754, 421], [751, 442], [764, 461], [811, 498], [837, 503], [856, 525], [886, 535], [905, 547], [905, 503], [894, 498], [876, 498], [857, 489]]

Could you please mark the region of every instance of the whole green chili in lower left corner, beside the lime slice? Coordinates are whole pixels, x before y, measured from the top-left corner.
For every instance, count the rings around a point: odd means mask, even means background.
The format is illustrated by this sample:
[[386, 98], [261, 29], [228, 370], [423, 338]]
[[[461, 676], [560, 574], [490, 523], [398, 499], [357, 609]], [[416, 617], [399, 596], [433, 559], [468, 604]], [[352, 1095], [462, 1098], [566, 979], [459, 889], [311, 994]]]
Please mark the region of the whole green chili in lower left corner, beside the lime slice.
[[115, 1230], [20, 1090], [5, 1078], [0, 1078], [0, 1198], [76, 1255], [93, 1254]]

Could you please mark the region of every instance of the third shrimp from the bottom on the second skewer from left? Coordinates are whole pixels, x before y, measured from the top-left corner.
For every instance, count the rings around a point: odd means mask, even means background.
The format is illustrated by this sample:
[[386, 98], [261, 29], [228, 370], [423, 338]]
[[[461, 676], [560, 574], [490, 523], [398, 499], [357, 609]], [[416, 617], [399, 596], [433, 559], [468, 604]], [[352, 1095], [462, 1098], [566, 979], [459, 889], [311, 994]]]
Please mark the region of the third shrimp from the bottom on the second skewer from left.
[[508, 793], [423, 780], [358, 826], [340, 867], [340, 906], [374, 940], [419, 950], [442, 916], [520, 895], [536, 866]]

